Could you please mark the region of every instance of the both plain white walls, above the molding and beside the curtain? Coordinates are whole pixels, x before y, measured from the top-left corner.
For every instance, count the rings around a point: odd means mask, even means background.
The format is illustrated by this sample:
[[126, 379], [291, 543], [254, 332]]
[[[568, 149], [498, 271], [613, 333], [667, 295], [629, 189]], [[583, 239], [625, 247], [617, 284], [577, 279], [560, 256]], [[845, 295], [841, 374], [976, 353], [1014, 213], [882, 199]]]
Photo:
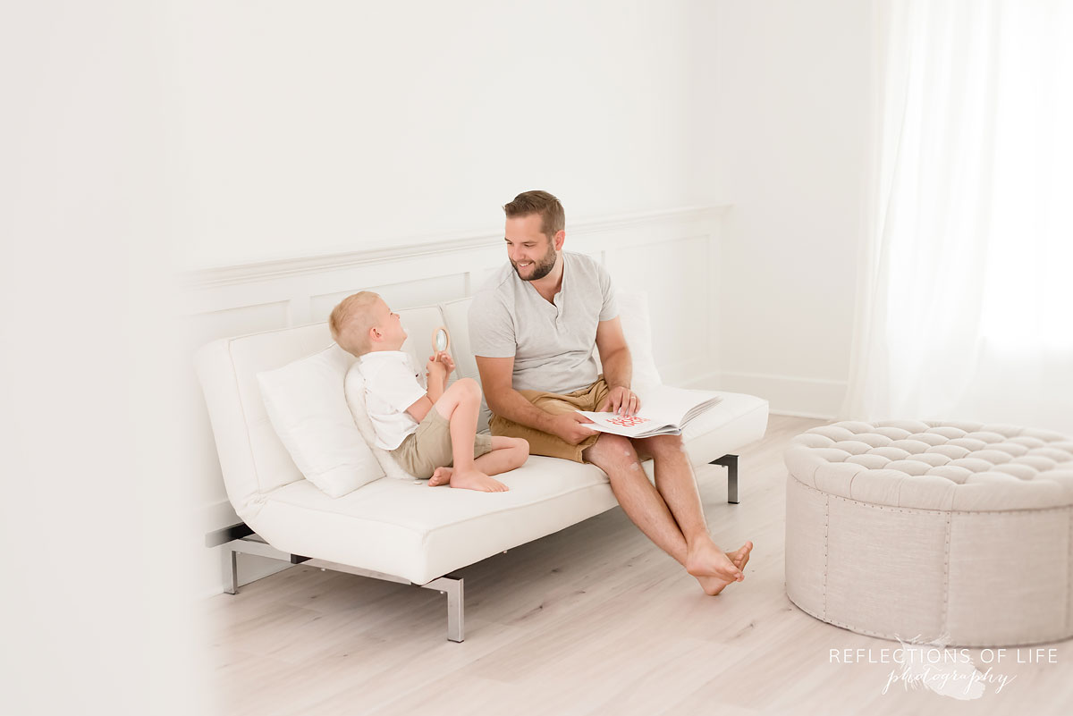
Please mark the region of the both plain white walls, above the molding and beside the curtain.
[[719, 378], [834, 415], [870, 91], [859, 0], [175, 3], [180, 265], [732, 204]]

